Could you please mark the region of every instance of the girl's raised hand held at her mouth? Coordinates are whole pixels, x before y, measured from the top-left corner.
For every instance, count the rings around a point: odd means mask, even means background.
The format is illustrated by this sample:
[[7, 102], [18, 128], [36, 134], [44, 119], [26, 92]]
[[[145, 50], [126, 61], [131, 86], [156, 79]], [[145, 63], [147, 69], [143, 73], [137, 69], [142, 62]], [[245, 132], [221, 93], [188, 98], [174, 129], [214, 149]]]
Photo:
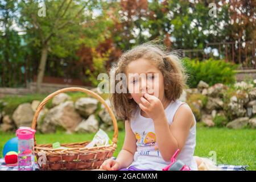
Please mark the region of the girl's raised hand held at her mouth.
[[139, 107], [150, 117], [153, 121], [158, 121], [159, 118], [164, 117], [164, 107], [159, 98], [151, 96], [148, 93], [141, 97], [143, 104], [139, 104]]

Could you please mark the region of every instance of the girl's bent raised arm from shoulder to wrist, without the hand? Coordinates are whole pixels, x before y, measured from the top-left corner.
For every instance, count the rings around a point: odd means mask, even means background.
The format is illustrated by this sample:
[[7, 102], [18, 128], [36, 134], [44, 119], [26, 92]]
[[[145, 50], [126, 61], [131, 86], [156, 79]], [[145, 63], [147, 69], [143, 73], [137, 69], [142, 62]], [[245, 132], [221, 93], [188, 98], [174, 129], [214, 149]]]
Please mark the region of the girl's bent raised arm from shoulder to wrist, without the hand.
[[192, 110], [186, 104], [177, 109], [170, 126], [168, 126], [166, 115], [154, 121], [156, 141], [160, 154], [166, 162], [170, 162], [172, 155], [178, 148], [182, 150], [193, 123]]

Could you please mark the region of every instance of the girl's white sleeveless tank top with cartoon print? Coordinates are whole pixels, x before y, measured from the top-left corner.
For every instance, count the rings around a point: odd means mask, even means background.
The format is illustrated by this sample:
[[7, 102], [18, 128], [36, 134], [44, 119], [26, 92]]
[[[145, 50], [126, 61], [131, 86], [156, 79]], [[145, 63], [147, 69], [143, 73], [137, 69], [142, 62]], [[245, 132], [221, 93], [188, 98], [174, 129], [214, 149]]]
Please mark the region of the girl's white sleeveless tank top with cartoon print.
[[[169, 125], [171, 125], [174, 114], [181, 104], [186, 103], [179, 100], [172, 101], [166, 109], [164, 109]], [[162, 169], [168, 166], [171, 162], [165, 162], [160, 154], [158, 144], [156, 142], [153, 120], [151, 118], [143, 117], [141, 115], [141, 108], [137, 106], [137, 109], [133, 112], [133, 117], [130, 123], [131, 130], [133, 130], [133, 133], [137, 138], [137, 151], [134, 154], [134, 160], [130, 166], [134, 166], [139, 169], [155, 169], [157, 171], [162, 171]], [[192, 170], [197, 170], [197, 164], [193, 158], [195, 146], [196, 123], [189, 130], [189, 135], [184, 147], [176, 158], [181, 160]]]

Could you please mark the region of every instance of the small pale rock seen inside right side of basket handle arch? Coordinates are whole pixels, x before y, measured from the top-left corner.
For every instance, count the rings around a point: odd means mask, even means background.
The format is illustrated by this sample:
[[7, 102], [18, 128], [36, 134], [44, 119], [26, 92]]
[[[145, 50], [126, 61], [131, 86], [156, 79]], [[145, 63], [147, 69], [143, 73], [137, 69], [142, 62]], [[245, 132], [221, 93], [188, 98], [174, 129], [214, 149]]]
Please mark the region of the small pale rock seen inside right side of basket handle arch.
[[96, 133], [98, 131], [98, 121], [95, 115], [92, 114], [88, 119], [83, 120], [75, 129], [77, 132]]

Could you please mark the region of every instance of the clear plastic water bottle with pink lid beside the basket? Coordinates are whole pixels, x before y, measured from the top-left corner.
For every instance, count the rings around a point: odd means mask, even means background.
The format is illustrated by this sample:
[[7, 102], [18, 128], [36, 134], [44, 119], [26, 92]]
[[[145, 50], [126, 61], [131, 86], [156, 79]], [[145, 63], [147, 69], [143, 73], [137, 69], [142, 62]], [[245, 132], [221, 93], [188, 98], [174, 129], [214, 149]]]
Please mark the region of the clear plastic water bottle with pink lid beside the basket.
[[35, 170], [34, 135], [35, 130], [30, 127], [20, 127], [16, 130], [18, 137], [18, 170]]

